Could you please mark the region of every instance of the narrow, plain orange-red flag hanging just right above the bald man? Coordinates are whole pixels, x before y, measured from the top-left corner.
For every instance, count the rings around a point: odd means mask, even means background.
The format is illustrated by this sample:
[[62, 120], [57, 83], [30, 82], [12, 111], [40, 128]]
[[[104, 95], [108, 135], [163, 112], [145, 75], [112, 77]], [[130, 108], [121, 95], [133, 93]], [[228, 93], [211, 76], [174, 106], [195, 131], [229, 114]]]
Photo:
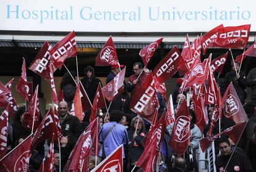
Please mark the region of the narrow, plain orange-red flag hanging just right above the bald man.
[[83, 120], [83, 109], [82, 109], [82, 100], [80, 97], [80, 84], [77, 85], [77, 90], [75, 91], [75, 96], [74, 96], [74, 111], [75, 111], [75, 116], [79, 118], [79, 121]]

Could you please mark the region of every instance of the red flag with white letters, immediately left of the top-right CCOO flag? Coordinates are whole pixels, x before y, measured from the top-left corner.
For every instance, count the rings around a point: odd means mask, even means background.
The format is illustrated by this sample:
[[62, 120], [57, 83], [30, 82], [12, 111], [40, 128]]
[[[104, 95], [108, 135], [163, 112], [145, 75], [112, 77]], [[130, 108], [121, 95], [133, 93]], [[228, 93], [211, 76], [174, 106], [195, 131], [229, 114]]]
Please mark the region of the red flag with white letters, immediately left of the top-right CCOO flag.
[[218, 27], [213, 28], [212, 30], [205, 33], [205, 35], [201, 38], [201, 43], [203, 46], [203, 55], [205, 55], [205, 52], [207, 51], [208, 47], [213, 47], [213, 44], [215, 43], [217, 37], [218, 37], [218, 30], [220, 28], [223, 28], [223, 25], [218, 25]]

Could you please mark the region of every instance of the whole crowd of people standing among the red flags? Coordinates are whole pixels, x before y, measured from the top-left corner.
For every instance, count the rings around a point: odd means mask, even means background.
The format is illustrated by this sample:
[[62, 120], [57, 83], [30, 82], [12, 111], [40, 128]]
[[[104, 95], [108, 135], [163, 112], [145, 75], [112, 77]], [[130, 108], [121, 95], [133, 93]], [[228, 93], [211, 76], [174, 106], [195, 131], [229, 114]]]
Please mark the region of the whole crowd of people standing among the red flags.
[[[245, 127], [244, 133], [241, 136], [239, 144], [234, 145], [232, 141], [226, 137], [221, 136], [216, 141], [216, 169], [217, 171], [255, 171], [256, 170], [256, 68], [250, 70], [246, 76], [244, 72], [237, 74], [240, 64], [238, 62], [232, 63], [233, 67], [231, 72], [226, 73], [224, 78], [216, 78], [218, 86], [221, 89], [221, 95], [224, 94], [229, 83], [233, 83], [236, 89], [237, 96], [239, 97], [242, 105], [244, 105], [245, 112], [249, 121]], [[111, 66], [111, 72], [106, 78], [106, 84], [113, 80], [114, 76], [120, 72], [120, 67], [123, 66], [113, 65]], [[148, 69], [143, 70], [143, 64], [140, 62], [134, 63], [133, 66], [134, 75], [129, 77], [129, 81], [124, 82], [124, 91], [114, 97], [109, 107], [109, 113], [106, 109], [102, 109], [102, 113], [98, 113], [100, 118], [100, 131], [98, 138], [99, 154], [98, 158], [95, 156], [89, 157], [88, 169], [89, 171], [95, 167], [95, 162], [100, 163], [101, 160], [108, 157], [113, 150], [119, 145], [124, 145], [123, 160], [124, 171], [131, 171], [140, 156], [143, 154], [145, 145], [143, 145], [143, 138], [147, 136], [150, 129], [150, 123], [139, 117], [135, 112], [129, 109], [129, 103], [132, 97], [136, 96], [135, 92], [140, 88], [141, 84], [147, 78], [150, 73]], [[86, 67], [84, 70], [84, 78], [81, 81], [83, 88], [87, 92], [88, 98], [93, 104], [96, 89], [101, 81], [95, 78], [95, 70], [93, 67]], [[83, 121], [79, 121], [79, 118], [74, 115], [70, 115], [70, 109], [72, 109], [72, 102], [75, 96], [75, 90], [77, 88], [75, 81], [77, 80], [75, 72], [65, 73], [62, 77], [59, 88], [64, 93], [64, 100], [59, 102], [58, 117], [62, 130], [61, 138], [61, 157], [58, 149], [54, 150], [54, 171], [61, 170], [66, 165], [69, 155], [74, 148], [77, 139], [79, 139], [82, 131], [89, 125], [90, 112], [87, 110], [84, 112], [85, 116]], [[177, 79], [177, 88], [181, 86], [180, 78]], [[247, 88], [251, 88], [251, 98], [249, 102], [245, 102], [247, 98]], [[186, 99], [184, 92], [179, 93], [178, 89], [173, 90], [173, 103], [174, 113], [177, 113], [179, 105]], [[163, 95], [157, 92], [158, 101], [160, 102], [160, 109], [158, 119], [160, 119], [162, 112], [167, 109], [166, 101], [163, 99]], [[211, 116], [213, 115], [214, 105], [207, 106], [209, 123]], [[7, 146], [10, 151], [25, 137], [27, 137], [31, 131], [23, 128], [22, 121], [25, 113], [25, 107], [19, 107], [15, 114], [15, 119], [11, 121], [7, 132], [8, 141]], [[173, 128], [173, 124], [166, 126], [164, 131], [164, 141], [161, 144], [160, 151], [160, 163], [159, 171], [198, 171], [198, 162], [195, 158], [195, 152], [199, 147], [199, 141], [202, 137], [208, 135], [209, 126], [205, 126], [203, 132], [200, 131], [195, 124], [195, 112], [190, 110], [191, 122], [190, 122], [190, 145], [187, 148], [186, 154], [182, 157], [175, 155], [172, 148], [168, 144], [168, 140]], [[208, 123], [208, 124], [209, 124]], [[219, 132], [219, 124], [216, 124], [213, 129], [213, 133]], [[225, 118], [221, 120], [221, 130], [229, 128], [234, 125], [234, 121]], [[50, 141], [41, 141], [36, 145], [36, 149], [31, 152], [30, 156], [30, 171], [37, 171], [40, 168], [43, 158], [46, 157], [49, 150]], [[193, 154], [194, 152], [194, 154]], [[219, 154], [220, 152], [220, 154]], [[233, 153], [234, 152], [234, 153]], [[218, 154], [218, 155], [217, 155]], [[233, 155], [232, 155], [233, 154]], [[191, 161], [192, 155], [193, 160]], [[229, 158], [231, 157], [231, 160]], [[59, 160], [61, 158], [61, 165]], [[230, 161], [228, 163], [228, 161]], [[225, 169], [228, 163], [227, 168]], [[139, 167], [136, 167], [134, 171], [141, 171]]]

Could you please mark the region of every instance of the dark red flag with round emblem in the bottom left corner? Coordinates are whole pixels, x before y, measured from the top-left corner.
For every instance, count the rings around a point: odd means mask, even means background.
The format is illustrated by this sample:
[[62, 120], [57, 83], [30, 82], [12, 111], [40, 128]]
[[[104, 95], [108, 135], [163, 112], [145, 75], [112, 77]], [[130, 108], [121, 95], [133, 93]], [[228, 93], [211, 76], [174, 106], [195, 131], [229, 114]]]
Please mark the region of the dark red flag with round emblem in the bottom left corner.
[[32, 134], [0, 160], [0, 164], [4, 166], [0, 171], [29, 171], [31, 137]]

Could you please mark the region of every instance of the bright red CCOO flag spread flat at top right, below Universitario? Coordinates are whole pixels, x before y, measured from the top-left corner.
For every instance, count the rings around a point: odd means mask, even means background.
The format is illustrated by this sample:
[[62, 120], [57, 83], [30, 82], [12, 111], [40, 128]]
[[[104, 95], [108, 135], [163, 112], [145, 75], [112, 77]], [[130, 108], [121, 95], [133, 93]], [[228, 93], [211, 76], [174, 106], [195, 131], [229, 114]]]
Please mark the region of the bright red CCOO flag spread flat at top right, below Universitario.
[[214, 47], [245, 49], [250, 35], [250, 25], [218, 29]]

